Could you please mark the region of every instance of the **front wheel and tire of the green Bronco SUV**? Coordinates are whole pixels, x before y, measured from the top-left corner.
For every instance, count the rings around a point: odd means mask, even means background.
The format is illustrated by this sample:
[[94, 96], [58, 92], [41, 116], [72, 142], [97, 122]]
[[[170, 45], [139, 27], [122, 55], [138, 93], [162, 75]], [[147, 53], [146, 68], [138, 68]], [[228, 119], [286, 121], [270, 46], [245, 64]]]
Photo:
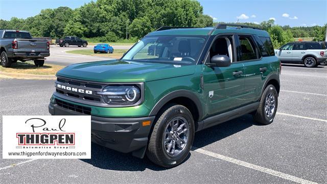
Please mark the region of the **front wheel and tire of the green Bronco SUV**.
[[172, 104], [154, 125], [147, 156], [159, 166], [175, 167], [188, 156], [193, 139], [194, 120], [191, 112], [182, 105]]

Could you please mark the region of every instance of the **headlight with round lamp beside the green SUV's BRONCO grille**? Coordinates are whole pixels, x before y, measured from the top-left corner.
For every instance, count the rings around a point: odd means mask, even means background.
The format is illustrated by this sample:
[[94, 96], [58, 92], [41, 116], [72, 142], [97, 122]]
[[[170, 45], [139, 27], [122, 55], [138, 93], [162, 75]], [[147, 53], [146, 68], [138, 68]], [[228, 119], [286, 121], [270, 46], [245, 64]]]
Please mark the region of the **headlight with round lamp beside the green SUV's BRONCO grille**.
[[111, 105], [131, 105], [141, 98], [141, 90], [134, 85], [109, 85], [98, 94]]

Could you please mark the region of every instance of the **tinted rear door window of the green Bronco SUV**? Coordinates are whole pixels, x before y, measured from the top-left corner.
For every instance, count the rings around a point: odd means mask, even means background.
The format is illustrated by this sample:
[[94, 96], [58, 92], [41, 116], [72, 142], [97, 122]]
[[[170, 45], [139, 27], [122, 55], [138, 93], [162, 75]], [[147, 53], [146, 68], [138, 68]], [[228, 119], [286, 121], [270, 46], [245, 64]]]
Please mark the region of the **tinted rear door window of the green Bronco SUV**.
[[241, 59], [240, 61], [258, 59], [255, 44], [250, 36], [240, 36]]

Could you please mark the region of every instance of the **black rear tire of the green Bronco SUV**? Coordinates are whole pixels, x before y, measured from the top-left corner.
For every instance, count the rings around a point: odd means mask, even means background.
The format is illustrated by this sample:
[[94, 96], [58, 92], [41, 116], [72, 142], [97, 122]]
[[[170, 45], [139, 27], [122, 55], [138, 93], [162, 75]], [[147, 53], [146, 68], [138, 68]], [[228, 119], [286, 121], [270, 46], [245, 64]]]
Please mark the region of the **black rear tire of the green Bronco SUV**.
[[[274, 98], [274, 108], [271, 114], [267, 114], [266, 112], [266, 101], [269, 101], [267, 106], [272, 107], [272, 101], [269, 100], [269, 96], [272, 95]], [[278, 107], [278, 94], [275, 86], [268, 85], [262, 94], [260, 105], [258, 109], [254, 112], [253, 119], [256, 123], [268, 125], [274, 121], [276, 112]]]

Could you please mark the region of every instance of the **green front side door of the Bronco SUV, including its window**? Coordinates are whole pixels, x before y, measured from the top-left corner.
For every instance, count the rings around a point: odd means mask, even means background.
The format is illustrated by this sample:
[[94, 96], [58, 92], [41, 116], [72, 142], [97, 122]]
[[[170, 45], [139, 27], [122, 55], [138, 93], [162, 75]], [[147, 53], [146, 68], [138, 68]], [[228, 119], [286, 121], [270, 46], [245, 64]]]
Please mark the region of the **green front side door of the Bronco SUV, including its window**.
[[215, 55], [228, 56], [231, 64], [227, 67], [202, 65], [206, 116], [239, 107], [243, 103], [244, 65], [243, 62], [237, 62], [234, 35], [217, 37], [207, 54], [206, 62]]

